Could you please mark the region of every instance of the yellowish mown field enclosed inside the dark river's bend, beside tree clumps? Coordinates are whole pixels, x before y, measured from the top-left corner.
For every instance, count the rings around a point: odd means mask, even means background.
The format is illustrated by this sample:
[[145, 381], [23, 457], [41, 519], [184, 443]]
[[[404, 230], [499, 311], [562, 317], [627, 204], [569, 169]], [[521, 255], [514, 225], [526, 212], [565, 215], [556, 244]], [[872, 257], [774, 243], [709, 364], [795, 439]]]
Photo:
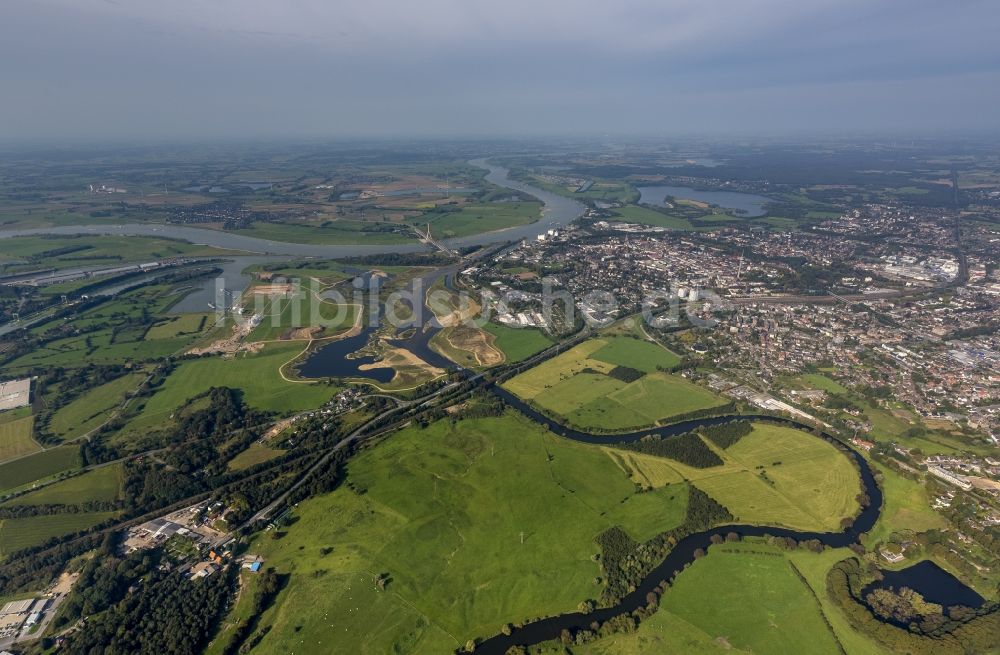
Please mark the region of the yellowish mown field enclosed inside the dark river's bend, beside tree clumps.
[[704, 469], [628, 451], [614, 454], [637, 483], [672, 483], [676, 475], [725, 505], [740, 522], [837, 531], [840, 519], [858, 509], [857, 471], [843, 453], [805, 432], [759, 424], [734, 446], [715, 450], [724, 464]]

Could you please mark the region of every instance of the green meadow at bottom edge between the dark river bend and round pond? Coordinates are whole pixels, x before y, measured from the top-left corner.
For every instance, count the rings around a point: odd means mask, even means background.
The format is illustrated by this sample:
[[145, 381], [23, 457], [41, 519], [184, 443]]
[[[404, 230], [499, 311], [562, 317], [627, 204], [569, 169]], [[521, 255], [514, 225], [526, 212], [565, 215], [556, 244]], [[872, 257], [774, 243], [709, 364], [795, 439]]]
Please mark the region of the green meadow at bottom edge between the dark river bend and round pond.
[[[849, 554], [846, 549], [786, 553], [759, 542], [713, 547], [707, 557], [680, 575], [660, 609], [636, 632], [574, 647], [573, 652], [884, 653], [855, 632], [826, 597], [826, 572]], [[543, 652], [562, 651], [553, 646]]]

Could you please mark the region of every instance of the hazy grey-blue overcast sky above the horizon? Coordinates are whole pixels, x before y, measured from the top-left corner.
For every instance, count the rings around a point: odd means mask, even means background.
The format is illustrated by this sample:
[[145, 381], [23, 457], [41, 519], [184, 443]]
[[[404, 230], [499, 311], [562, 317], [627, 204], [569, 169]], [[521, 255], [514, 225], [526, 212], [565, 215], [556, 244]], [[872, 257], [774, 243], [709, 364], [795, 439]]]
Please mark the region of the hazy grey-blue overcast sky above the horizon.
[[2, 0], [0, 140], [1000, 129], [989, 0]]

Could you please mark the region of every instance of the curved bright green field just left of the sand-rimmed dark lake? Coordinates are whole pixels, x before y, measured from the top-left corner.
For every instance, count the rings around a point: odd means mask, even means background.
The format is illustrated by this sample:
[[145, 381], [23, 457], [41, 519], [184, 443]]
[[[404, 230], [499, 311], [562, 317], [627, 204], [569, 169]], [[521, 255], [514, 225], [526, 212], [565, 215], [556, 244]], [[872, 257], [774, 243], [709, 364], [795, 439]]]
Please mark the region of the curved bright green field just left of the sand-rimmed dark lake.
[[149, 398], [142, 413], [126, 430], [159, 425], [188, 399], [212, 387], [232, 387], [243, 392], [244, 401], [258, 409], [296, 412], [312, 409], [339, 390], [324, 383], [285, 381], [278, 368], [302, 350], [302, 344], [270, 344], [256, 354], [232, 358], [201, 357], [180, 362]]

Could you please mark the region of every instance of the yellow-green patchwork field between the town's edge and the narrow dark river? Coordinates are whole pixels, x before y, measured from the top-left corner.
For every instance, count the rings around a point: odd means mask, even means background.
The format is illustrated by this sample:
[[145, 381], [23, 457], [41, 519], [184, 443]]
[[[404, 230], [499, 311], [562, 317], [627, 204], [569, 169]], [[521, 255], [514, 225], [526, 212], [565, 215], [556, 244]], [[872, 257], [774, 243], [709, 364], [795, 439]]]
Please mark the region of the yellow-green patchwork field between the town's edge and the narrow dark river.
[[[679, 361], [677, 355], [649, 341], [602, 337], [584, 341], [504, 386], [571, 425], [609, 431], [652, 425], [725, 404], [712, 392], [657, 370]], [[645, 375], [624, 382], [608, 375], [616, 366]]]

